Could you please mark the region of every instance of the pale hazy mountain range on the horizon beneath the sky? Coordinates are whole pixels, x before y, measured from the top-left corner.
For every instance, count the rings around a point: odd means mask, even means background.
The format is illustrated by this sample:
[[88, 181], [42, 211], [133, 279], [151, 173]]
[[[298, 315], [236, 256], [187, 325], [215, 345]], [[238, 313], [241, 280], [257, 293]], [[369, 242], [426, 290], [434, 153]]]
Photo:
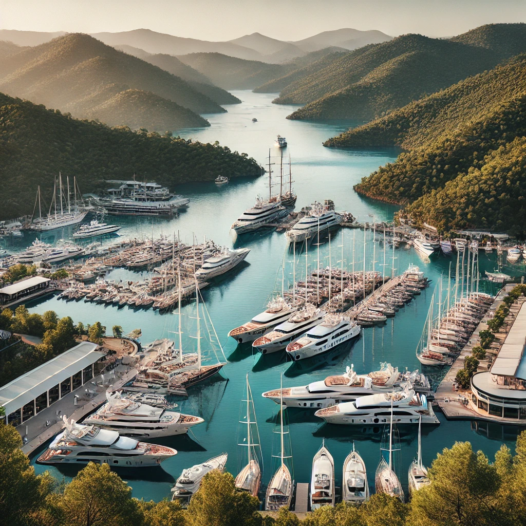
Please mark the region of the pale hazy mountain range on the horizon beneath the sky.
[[[11, 41], [21, 46], [35, 46], [64, 34], [64, 32], [38, 33], [1, 29], [0, 40]], [[386, 42], [391, 39], [389, 35], [380, 31], [359, 31], [350, 28], [325, 31], [297, 42], [281, 41], [260, 33], [252, 33], [228, 42], [208, 42], [157, 33], [150, 29], [134, 29], [119, 33], [93, 33], [92, 36], [110, 46], [133, 46], [151, 54], [220, 53], [272, 64], [287, 62], [295, 57], [331, 46], [356, 49], [366, 44]]]

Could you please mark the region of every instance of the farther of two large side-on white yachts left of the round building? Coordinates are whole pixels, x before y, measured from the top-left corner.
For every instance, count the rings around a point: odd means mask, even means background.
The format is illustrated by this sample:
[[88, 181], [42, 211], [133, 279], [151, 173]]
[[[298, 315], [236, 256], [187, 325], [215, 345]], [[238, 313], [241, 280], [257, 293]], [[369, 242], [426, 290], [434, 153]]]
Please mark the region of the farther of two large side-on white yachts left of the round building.
[[281, 399], [285, 407], [321, 409], [375, 393], [400, 391], [408, 382], [416, 392], [426, 396], [431, 393], [429, 380], [419, 371], [400, 373], [390, 363], [382, 363], [379, 371], [368, 375], [357, 375], [351, 366], [343, 375], [328, 376], [307, 386], [286, 387], [282, 395], [274, 389], [261, 396], [276, 403]]

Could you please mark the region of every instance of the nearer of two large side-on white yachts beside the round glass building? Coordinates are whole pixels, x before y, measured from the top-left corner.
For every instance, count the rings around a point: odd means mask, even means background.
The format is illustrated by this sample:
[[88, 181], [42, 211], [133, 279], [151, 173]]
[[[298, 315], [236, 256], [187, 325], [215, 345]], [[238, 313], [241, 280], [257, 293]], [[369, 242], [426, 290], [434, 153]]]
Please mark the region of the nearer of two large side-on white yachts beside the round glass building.
[[420, 416], [424, 423], [440, 423], [426, 396], [416, 394], [408, 386], [403, 391], [363, 396], [353, 402], [318, 409], [314, 414], [330, 424], [363, 426], [387, 423], [391, 400], [394, 408], [393, 421], [396, 423], [417, 423]]

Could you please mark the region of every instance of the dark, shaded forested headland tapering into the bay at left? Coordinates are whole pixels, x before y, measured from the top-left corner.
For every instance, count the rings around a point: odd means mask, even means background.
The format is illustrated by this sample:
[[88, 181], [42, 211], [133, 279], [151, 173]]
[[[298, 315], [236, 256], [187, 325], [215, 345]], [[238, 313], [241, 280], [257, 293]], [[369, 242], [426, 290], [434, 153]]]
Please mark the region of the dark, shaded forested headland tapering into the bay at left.
[[171, 189], [218, 174], [261, 173], [254, 159], [227, 147], [109, 128], [0, 94], [0, 219], [31, 214], [37, 186], [46, 199], [59, 171], [75, 175], [83, 193], [102, 188], [105, 179], [128, 179], [134, 173]]

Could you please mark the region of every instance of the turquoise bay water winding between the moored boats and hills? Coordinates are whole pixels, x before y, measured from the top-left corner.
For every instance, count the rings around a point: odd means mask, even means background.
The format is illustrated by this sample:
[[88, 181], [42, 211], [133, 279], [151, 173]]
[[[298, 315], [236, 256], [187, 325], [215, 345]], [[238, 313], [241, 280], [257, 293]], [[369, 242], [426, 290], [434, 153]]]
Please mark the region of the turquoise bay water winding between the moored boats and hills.
[[[286, 120], [292, 106], [272, 105], [272, 95], [254, 94], [251, 92], [235, 92], [243, 104], [228, 106], [228, 113], [206, 116], [210, 128], [186, 130], [181, 136], [196, 138], [200, 141], [219, 140], [221, 145], [227, 145], [232, 150], [246, 152], [260, 163], [268, 156], [268, 147], [273, 153], [274, 139], [277, 134], [285, 136], [289, 147], [284, 153], [291, 154], [292, 173], [295, 180], [294, 188], [298, 194], [297, 209], [309, 205], [313, 200], [331, 198], [335, 201], [337, 210], [347, 210], [359, 220], [372, 220], [369, 215], [375, 215], [377, 220], [390, 219], [396, 207], [374, 203], [361, 198], [352, 186], [368, 175], [378, 166], [396, 158], [393, 150], [343, 151], [323, 148], [323, 140], [347, 129], [352, 123], [320, 124]], [[258, 119], [252, 123], [252, 117]], [[276, 168], [276, 167], [274, 167]], [[206, 238], [214, 239], [219, 244], [231, 245], [229, 237], [230, 224], [246, 208], [254, 204], [258, 193], [266, 195], [265, 177], [258, 179], [239, 179], [228, 185], [217, 188], [213, 183], [196, 183], [181, 185], [176, 190], [191, 199], [188, 210], [174, 219], [151, 218], [110, 218], [112, 222], [123, 226], [120, 233], [124, 237], [150, 237], [159, 234], [173, 235], [180, 232], [183, 241], [191, 242], [192, 235], [200, 241]], [[68, 237], [68, 230], [53, 232], [43, 239], [49, 242], [61, 237]], [[353, 236], [355, 250], [353, 258]], [[380, 238], [382, 233], [377, 234]], [[17, 240], [16, 247], [27, 246], [29, 239]], [[109, 240], [105, 240], [107, 244]], [[341, 246], [343, 245], [343, 265], [349, 270], [352, 260], [355, 269], [363, 268], [363, 231], [340, 230], [331, 241], [332, 265], [341, 265]], [[199, 414], [206, 423], [193, 428], [193, 434], [188, 437], [175, 437], [166, 440], [169, 446], [175, 447], [179, 453], [163, 463], [163, 469], [120, 473], [125, 480], [130, 481], [135, 497], [147, 500], [160, 500], [170, 495], [170, 487], [180, 472], [193, 464], [204, 462], [222, 451], [229, 454], [227, 469], [237, 473], [238, 448], [237, 428], [240, 400], [245, 387], [245, 375], [249, 373], [249, 381], [254, 393], [255, 409], [259, 424], [262, 453], [265, 461], [263, 474], [264, 484], [272, 476], [270, 456], [272, 449], [272, 427], [277, 415], [278, 406], [261, 398], [260, 393], [279, 387], [280, 373], [284, 373], [284, 386], [305, 385], [311, 381], [321, 380], [330, 374], [345, 371], [346, 366], [354, 365], [358, 373], [366, 373], [378, 369], [380, 362], [389, 361], [400, 369], [406, 367], [414, 370], [419, 367], [415, 349], [420, 339], [423, 322], [427, 316], [432, 290], [440, 275], [447, 278], [451, 262], [454, 272], [455, 261], [445, 257], [437, 257], [431, 262], [422, 261], [412, 250], [403, 248], [395, 250], [395, 267], [405, 270], [412, 262], [424, 270], [433, 280], [432, 287], [417, 296], [409, 305], [400, 309], [397, 316], [388, 320], [383, 327], [365, 329], [360, 339], [352, 345], [337, 349], [336, 353], [326, 356], [323, 360], [300, 362], [300, 367], [291, 365], [282, 356], [252, 356], [250, 346], [237, 346], [234, 340], [226, 339], [228, 331], [248, 321], [252, 316], [265, 308], [273, 291], [281, 290], [282, 281], [285, 287], [292, 283], [292, 258], [286, 250], [285, 236], [282, 233], [267, 232], [242, 236], [236, 246], [250, 248], [246, 264], [235, 272], [216, 281], [213, 287], [203, 291], [203, 296], [211, 319], [224, 344], [224, 352], [229, 363], [222, 371], [222, 377], [216, 377], [208, 385], [190, 390], [187, 400], [178, 401], [181, 411]], [[373, 248], [375, 247], [375, 248]], [[374, 257], [373, 257], [374, 250]], [[390, 274], [392, 252], [386, 251], [386, 274]], [[298, 253], [296, 262], [297, 278], [305, 275], [305, 252]], [[328, 265], [329, 246], [326, 242], [320, 246], [321, 265]], [[317, 259], [316, 247], [309, 247], [309, 269], [315, 267]], [[381, 270], [384, 262], [383, 245], [372, 243], [372, 233], [367, 232], [366, 270], [375, 268]], [[493, 270], [496, 267], [494, 257], [481, 253], [480, 270]], [[283, 270], [282, 270], [283, 269]], [[504, 271], [510, 270], [509, 268]], [[515, 273], [518, 272], [519, 269]], [[146, 273], [143, 273], [143, 276]], [[126, 279], [137, 273], [125, 270], [115, 270], [110, 274], [113, 279]], [[453, 284], [453, 282], [452, 282]], [[480, 282], [481, 288], [489, 290], [487, 281]], [[447, 279], [444, 289], [447, 288]], [[140, 327], [143, 329], [141, 342], [170, 336], [170, 330], [177, 330], [177, 317], [170, 314], [160, 315], [152, 310], [130, 310], [127, 307], [117, 310], [113, 307], [84, 304], [83, 302], [64, 302], [50, 298], [33, 305], [31, 311], [43, 312], [54, 309], [59, 316], [71, 316], [75, 322], [93, 323], [97, 320], [111, 330], [113, 325], [121, 325], [125, 332]], [[195, 340], [189, 338], [194, 330], [193, 307], [183, 308], [185, 327], [185, 347], [195, 346]], [[174, 337], [174, 335], [171, 335]], [[203, 343], [206, 348], [206, 342]], [[429, 371], [438, 378], [436, 371]], [[226, 380], [228, 379], [228, 381]], [[287, 410], [290, 421], [290, 437], [294, 455], [295, 479], [307, 482], [310, 479], [312, 457], [321, 445], [322, 438], [332, 453], [336, 464], [337, 485], [341, 485], [341, 470], [343, 459], [352, 449], [355, 441], [366, 462], [371, 488], [374, 485], [374, 473], [380, 459], [380, 438], [382, 429], [351, 428], [345, 426], [324, 426], [310, 412]], [[446, 421], [439, 414], [439, 427], [424, 427], [422, 431], [423, 460], [428, 465], [436, 457], [437, 452], [444, 447], [451, 447], [456, 440], [469, 440], [474, 449], [481, 449], [492, 457], [502, 441], [512, 447], [517, 430], [490, 426], [487, 432], [472, 429], [470, 422]], [[489, 435], [489, 437], [487, 436]], [[402, 482], [407, 488], [407, 469], [416, 454], [417, 436], [414, 428], [401, 428], [401, 473]], [[42, 466], [36, 467], [43, 471]], [[58, 471], [52, 468], [57, 476], [70, 477], [75, 472]], [[261, 493], [264, 495], [264, 493]]]

